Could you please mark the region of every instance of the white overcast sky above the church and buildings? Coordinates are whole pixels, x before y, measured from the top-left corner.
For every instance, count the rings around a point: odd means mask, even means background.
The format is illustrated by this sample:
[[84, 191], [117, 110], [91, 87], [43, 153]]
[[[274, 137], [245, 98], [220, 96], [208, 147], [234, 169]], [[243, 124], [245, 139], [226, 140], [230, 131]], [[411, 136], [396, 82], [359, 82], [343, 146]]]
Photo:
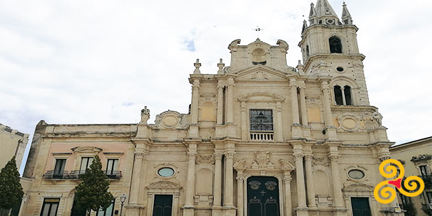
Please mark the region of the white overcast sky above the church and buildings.
[[[287, 41], [296, 67], [310, 3], [0, 0], [0, 123], [32, 139], [40, 119], [136, 123], [144, 106], [149, 122], [168, 109], [187, 112], [195, 59], [202, 73], [217, 73], [219, 58], [229, 66], [228, 44], [252, 43], [256, 25], [264, 42]], [[330, 3], [341, 16], [342, 1]], [[432, 1], [346, 3], [366, 56], [370, 104], [390, 141], [432, 136]]]

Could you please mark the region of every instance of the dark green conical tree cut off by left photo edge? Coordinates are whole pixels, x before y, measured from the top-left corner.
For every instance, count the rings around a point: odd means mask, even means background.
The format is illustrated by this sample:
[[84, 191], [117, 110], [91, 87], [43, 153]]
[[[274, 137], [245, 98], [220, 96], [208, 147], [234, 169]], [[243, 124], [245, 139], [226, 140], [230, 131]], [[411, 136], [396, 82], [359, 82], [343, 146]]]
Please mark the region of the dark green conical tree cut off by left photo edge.
[[19, 182], [19, 172], [13, 157], [0, 171], [0, 208], [12, 208], [21, 202], [23, 195], [23, 187]]

